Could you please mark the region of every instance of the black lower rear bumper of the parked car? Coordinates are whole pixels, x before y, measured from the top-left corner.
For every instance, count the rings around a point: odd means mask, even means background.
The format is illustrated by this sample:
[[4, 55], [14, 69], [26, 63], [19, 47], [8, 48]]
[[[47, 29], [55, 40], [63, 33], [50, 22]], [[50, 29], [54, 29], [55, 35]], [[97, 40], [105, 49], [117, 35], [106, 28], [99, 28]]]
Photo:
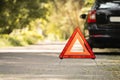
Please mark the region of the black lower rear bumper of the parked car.
[[120, 48], [120, 37], [109, 35], [93, 35], [89, 38], [90, 44], [95, 48]]

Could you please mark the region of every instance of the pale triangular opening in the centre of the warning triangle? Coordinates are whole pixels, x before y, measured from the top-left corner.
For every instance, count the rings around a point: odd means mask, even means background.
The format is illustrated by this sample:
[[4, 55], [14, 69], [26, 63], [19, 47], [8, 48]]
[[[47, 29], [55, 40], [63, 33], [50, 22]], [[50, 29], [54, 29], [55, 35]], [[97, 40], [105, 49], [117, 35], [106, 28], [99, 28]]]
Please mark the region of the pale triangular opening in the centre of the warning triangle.
[[83, 51], [84, 51], [84, 49], [83, 49], [81, 43], [79, 42], [79, 40], [77, 39], [75, 41], [75, 43], [73, 44], [70, 52], [83, 52]]

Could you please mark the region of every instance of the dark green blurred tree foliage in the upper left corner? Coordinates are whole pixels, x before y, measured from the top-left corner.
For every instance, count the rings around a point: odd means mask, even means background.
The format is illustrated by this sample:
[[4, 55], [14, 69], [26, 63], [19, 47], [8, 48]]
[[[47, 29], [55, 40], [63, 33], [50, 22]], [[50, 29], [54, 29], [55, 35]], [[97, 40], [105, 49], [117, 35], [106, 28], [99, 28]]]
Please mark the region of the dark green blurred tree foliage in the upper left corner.
[[49, 0], [1, 0], [0, 34], [10, 34], [22, 29], [36, 18], [46, 18]]

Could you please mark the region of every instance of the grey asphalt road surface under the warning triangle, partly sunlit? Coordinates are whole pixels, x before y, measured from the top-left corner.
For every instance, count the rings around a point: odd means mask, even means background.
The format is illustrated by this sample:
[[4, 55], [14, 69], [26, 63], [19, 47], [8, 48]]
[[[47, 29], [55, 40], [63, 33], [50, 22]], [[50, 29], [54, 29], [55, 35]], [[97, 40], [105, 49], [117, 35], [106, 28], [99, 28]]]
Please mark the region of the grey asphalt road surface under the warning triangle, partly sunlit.
[[0, 49], [0, 80], [120, 80], [120, 52], [95, 52], [95, 60], [61, 60], [63, 45]]

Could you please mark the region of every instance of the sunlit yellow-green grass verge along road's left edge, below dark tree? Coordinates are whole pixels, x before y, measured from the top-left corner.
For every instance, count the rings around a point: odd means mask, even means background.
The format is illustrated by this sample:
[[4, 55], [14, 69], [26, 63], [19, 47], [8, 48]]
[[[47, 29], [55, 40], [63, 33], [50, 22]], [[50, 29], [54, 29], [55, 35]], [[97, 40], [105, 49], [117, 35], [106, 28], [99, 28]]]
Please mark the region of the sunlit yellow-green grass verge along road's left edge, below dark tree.
[[27, 46], [35, 44], [43, 37], [36, 32], [27, 31], [20, 34], [0, 35], [0, 47]]

